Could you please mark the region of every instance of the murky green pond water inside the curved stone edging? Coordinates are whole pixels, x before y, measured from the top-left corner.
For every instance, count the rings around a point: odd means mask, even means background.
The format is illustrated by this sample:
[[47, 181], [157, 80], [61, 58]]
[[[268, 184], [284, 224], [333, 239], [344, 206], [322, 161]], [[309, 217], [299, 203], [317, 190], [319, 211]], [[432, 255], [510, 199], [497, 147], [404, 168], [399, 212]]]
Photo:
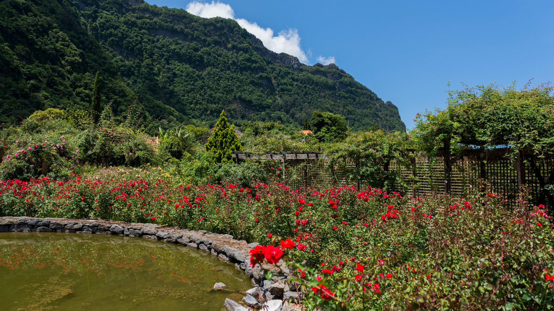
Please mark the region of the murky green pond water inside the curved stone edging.
[[252, 287], [205, 252], [139, 237], [0, 233], [0, 310], [221, 310], [223, 282]]

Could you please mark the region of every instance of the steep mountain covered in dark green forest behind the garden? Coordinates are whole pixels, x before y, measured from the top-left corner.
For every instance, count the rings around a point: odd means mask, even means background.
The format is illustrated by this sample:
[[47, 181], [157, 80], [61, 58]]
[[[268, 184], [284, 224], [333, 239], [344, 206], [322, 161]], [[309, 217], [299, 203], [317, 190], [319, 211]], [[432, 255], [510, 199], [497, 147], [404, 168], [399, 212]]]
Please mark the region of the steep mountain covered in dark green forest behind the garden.
[[37, 109], [90, 109], [124, 118], [135, 102], [151, 131], [192, 123], [278, 121], [340, 113], [354, 130], [404, 131], [398, 108], [335, 64], [307, 66], [266, 49], [232, 19], [201, 18], [141, 0], [0, 0], [0, 121]]

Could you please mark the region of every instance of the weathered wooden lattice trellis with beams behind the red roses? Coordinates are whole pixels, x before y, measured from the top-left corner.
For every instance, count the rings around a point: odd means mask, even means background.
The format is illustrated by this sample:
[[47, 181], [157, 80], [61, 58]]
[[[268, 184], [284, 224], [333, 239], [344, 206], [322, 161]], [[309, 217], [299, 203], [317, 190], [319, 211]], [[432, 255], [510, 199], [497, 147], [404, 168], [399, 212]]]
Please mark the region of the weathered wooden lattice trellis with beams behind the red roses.
[[[237, 153], [233, 154], [233, 158], [237, 163], [239, 159], [279, 160], [283, 165], [285, 180], [296, 189], [319, 184], [351, 183], [345, 178], [338, 178], [340, 172], [327, 169], [329, 158], [323, 153]], [[409, 166], [393, 160], [385, 168], [399, 174], [406, 181], [404, 184], [410, 185], [398, 185], [396, 191], [413, 196], [433, 192], [467, 196], [474, 187], [479, 186], [479, 180], [484, 180], [494, 188], [495, 193], [510, 201], [516, 199], [519, 187], [525, 185], [530, 188], [533, 204], [554, 206], [554, 198], [548, 190], [554, 184], [552, 156], [539, 159], [532, 154], [514, 154], [509, 148], [497, 148], [485, 152], [469, 150], [460, 156], [434, 159], [412, 152], [408, 158], [411, 158]], [[358, 163], [347, 159], [347, 165], [355, 167]], [[297, 175], [291, 176], [293, 172]], [[356, 186], [360, 187], [360, 180], [356, 181]]]

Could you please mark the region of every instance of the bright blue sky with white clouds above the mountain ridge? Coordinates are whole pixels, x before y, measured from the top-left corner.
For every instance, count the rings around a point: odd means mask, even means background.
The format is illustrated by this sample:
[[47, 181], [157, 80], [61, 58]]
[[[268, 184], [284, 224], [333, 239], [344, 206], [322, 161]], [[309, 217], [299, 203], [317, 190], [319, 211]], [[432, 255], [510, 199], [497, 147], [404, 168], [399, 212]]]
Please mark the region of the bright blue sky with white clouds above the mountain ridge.
[[417, 112], [445, 106], [448, 81], [454, 90], [461, 82], [554, 81], [554, 1], [147, 2], [230, 14], [223, 17], [258, 31], [266, 47], [291, 51], [307, 64], [334, 58], [398, 106], [408, 128]]

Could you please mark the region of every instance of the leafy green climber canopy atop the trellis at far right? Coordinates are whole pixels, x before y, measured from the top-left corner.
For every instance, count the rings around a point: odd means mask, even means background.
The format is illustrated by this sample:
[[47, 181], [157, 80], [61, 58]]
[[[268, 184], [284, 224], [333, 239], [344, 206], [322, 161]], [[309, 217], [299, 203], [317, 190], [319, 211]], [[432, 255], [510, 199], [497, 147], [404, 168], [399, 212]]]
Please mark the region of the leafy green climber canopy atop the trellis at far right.
[[515, 85], [468, 87], [450, 91], [444, 110], [418, 114], [412, 135], [429, 152], [502, 146], [542, 154], [554, 151], [553, 112], [554, 96], [547, 84], [528, 83], [521, 90]]

